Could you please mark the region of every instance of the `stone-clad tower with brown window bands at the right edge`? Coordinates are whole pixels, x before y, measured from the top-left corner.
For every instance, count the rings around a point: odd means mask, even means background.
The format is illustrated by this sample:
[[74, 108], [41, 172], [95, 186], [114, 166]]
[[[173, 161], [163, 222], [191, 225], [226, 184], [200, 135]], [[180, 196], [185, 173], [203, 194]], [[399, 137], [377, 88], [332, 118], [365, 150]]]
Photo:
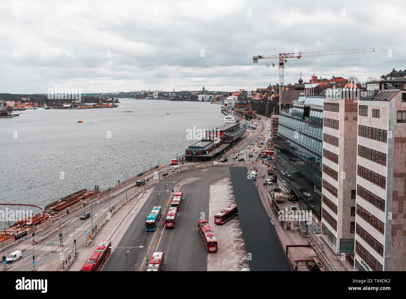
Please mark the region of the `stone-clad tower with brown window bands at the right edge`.
[[404, 88], [361, 92], [357, 154], [354, 270], [405, 271]]

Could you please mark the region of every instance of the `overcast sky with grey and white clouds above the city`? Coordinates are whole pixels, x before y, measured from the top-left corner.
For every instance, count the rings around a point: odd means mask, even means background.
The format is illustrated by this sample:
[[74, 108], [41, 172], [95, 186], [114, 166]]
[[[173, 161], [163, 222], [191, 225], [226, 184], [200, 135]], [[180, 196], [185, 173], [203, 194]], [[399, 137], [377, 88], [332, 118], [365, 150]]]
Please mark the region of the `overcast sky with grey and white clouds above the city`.
[[255, 90], [279, 69], [254, 55], [375, 48], [285, 64], [285, 84], [300, 72], [366, 81], [406, 69], [405, 12], [404, 1], [2, 1], [0, 92]]

